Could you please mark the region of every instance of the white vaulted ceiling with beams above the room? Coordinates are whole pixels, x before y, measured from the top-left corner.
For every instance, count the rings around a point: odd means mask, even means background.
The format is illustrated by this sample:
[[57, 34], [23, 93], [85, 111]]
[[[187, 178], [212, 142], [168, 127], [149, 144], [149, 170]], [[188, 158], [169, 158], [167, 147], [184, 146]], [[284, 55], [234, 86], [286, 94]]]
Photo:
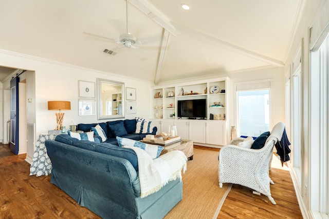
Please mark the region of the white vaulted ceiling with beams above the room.
[[2, 0], [0, 49], [155, 84], [283, 66], [304, 1], [130, 0], [133, 49], [114, 41], [126, 33], [125, 0]]

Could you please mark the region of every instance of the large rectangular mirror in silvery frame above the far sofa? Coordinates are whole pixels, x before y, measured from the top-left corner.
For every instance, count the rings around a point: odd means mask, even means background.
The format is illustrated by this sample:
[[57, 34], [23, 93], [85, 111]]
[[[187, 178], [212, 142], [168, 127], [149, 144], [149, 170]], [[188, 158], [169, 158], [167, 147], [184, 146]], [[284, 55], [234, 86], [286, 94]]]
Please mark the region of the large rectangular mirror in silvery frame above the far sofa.
[[124, 83], [97, 78], [98, 119], [124, 117]]

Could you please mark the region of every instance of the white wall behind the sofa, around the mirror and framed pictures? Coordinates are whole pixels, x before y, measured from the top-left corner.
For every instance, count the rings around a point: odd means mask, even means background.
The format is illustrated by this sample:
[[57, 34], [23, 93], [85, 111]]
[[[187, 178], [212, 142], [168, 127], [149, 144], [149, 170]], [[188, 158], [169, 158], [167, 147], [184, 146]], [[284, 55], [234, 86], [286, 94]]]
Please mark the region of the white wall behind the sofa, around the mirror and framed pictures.
[[[35, 84], [33, 84], [33, 74], [25, 77], [27, 77], [27, 98], [32, 97], [32, 103], [27, 104], [29, 108], [27, 117], [28, 122], [33, 122], [33, 118], [35, 118], [36, 136], [40, 133], [46, 133], [56, 126], [55, 112], [47, 110], [48, 101], [63, 100], [71, 102], [71, 110], [63, 111], [65, 112], [63, 121], [65, 126], [69, 126], [71, 121], [76, 124], [107, 121], [98, 121], [97, 114], [92, 116], [78, 115], [78, 80], [95, 82], [96, 84], [97, 78], [103, 78], [124, 82], [125, 87], [136, 88], [137, 113], [126, 114], [125, 118], [150, 117], [149, 106], [151, 105], [151, 99], [149, 96], [151, 83], [149, 82], [1, 50], [0, 65], [35, 71]], [[7, 85], [4, 83], [4, 86]], [[35, 97], [33, 96], [33, 89], [30, 90], [33, 86], [35, 86]]]

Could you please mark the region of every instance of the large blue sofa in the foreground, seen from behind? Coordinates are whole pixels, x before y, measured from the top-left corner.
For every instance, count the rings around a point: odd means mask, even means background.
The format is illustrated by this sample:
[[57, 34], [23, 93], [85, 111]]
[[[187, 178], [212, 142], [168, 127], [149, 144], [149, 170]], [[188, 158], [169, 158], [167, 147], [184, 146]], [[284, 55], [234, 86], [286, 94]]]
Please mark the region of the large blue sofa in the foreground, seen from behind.
[[104, 219], [160, 219], [182, 199], [179, 178], [141, 198], [132, 149], [79, 141], [68, 134], [45, 145], [52, 163], [50, 182]]

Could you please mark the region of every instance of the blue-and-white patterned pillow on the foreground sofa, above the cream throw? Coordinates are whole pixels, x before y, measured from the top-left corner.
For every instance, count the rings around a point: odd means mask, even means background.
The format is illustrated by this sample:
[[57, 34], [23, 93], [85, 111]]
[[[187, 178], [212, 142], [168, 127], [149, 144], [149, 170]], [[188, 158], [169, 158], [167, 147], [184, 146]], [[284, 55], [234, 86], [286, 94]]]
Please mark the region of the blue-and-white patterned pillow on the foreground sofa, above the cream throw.
[[124, 137], [117, 136], [117, 141], [118, 141], [119, 147], [131, 146], [131, 147], [138, 147], [138, 148], [143, 149], [145, 152], [147, 152], [151, 156], [152, 159], [157, 158], [160, 155], [161, 151], [163, 150], [162, 146], [145, 144], [145, 143], [138, 142], [135, 140], [131, 140], [129, 138], [124, 138]]

